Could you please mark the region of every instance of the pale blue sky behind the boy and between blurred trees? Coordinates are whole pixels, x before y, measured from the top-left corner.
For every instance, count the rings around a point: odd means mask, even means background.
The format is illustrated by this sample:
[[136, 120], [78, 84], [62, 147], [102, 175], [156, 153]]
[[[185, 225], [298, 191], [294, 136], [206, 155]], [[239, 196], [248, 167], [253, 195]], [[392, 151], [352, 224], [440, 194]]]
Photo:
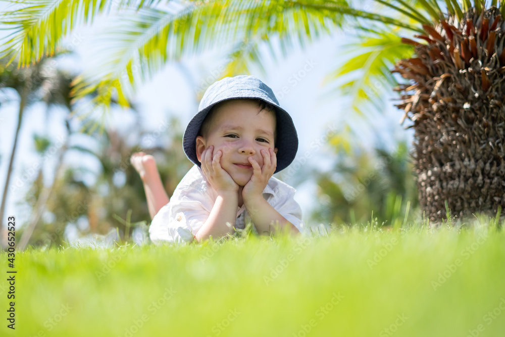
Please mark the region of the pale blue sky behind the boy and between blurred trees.
[[[70, 37], [74, 42], [75, 50], [81, 56], [81, 60], [75, 62], [68, 58], [62, 62], [63, 65], [78, 68], [79, 65], [89, 63], [88, 58], [92, 57], [87, 51], [92, 50], [93, 34], [99, 33], [99, 27], [94, 31], [82, 30]], [[348, 32], [347, 32], [348, 33]], [[260, 77], [276, 93], [281, 107], [291, 114], [297, 128], [299, 137], [299, 148], [297, 159], [302, 159], [308, 151], [311, 154], [310, 161], [305, 165], [329, 169], [332, 164], [332, 150], [328, 146], [316, 148], [318, 140], [324, 140], [325, 133], [354, 118], [349, 108], [349, 99], [339, 97], [337, 93], [332, 98], [322, 100], [323, 93], [329, 90], [328, 86], [323, 86], [322, 81], [326, 74], [337, 68], [342, 62], [342, 43], [347, 42], [346, 32], [334, 32], [331, 36], [323, 36], [311, 45], [307, 45], [305, 50], [295, 47], [286, 59], [282, 59], [280, 51], [277, 49], [278, 62], [270, 58], [268, 49], [262, 49], [264, 68], [267, 74], [261, 74], [257, 68], [253, 68], [252, 74]], [[276, 45], [275, 39], [272, 40]], [[135, 102], [143, 116], [143, 126], [146, 129], [156, 131], [160, 127], [160, 121], [168, 120], [171, 114], [177, 115], [185, 126], [191, 117], [196, 113], [198, 103], [195, 99], [194, 87], [200, 86], [204, 82], [213, 81], [215, 70], [223, 64], [222, 50], [215, 50], [203, 55], [182, 60], [180, 63], [169, 63], [165, 69], [155, 78], [145, 83], [137, 93]], [[304, 69], [305, 67], [305, 69]], [[306, 71], [308, 70], [308, 71]], [[294, 74], [299, 73], [303, 78], [296, 80]], [[282, 93], [282, 89], [286, 93]], [[287, 90], [286, 90], [287, 88]], [[4, 98], [0, 97], [4, 100]], [[394, 107], [385, 112], [383, 119], [374, 121], [375, 128], [382, 130], [384, 138], [411, 139], [412, 132], [407, 132], [398, 124], [401, 113]], [[8, 160], [12, 148], [14, 131], [17, 123], [18, 100], [13, 103], [3, 105], [0, 109], [0, 186], [5, 184]], [[14, 163], [14, 174], [11, 178], [11, 185], [19, 179], [30, 181], [34, 174], [30, 175], [31, 169], [39, 164], [41, 160], [34, 154], [32, 145], [32, 134], [37, 132], [44, 134], [48, 129], [51, 138], [57, 142], [58, 137], [65, 134], [62, 124], [64, 113], [55, 111], [51, 118], [44, 121], [44, 107], [36, 105], [26, 112], [26, 118], [21, 129], [19, 139], [19, 151]], [[127, 114], [115, 112], [109, 125], [118, 131], [127, 130], [135, 121], [126, 118]], [[357, 130], [362, 137], [363, 143], [367, 146], [373, 145], [375, 139], [370, 137], [371, 130], [364, 123], [359, 125]], [[88, 141], [88, 140], [83, 140]], [[312, 147], [311, 147], [312, 145]], [[393, 146], [393, 142], [389, 142]], [[182, 145], [181, 145], [182, 146]], [[78, 166], [83, 164], [83, 158], [69, 154], [65, 158], [66, 163]], [[294, 163], [294, 162], [293, 162]], [[54, 160], [46, 163], [45, 169], [48, 180], [51, 179], [51, 168]], [[89, 164], [92, 166], [92, 164]], [[291, 165], [292, 166], [292, 165]], [[96, 169], [96, 168], [95, 168]], [[283, 172], [288, 172], [289, 167]], [[23, 177], [24, 176], [24, 177]], [[285, 179], [290, 183], [291, 179]], [[27, 219], [28, 209], [21, 205], [16, 205], [25, 194], [24, 187], [9, 195], [6, 216], [15, 215], [18, 223]], [[296, 200], [302, 207], [304, 220], [308, 218], [309, 211], [316, 205], [316, 186], [308, 179], [306, 183], [297, 186]]]

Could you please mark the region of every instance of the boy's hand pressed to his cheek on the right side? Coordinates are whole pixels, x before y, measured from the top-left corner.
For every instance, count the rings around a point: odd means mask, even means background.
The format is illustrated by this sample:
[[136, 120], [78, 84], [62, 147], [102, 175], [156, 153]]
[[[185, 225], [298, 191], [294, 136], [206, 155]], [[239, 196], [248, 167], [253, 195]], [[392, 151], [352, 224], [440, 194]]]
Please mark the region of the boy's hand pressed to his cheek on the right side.
[[268, 180], [272, 177], [277, 167], [277, 156], [274, 150], [261, 150], [261, 155], [263, 156], [263, 167], [260, 167], [260, 164], [252, 159], [252, 157], [248, 157], [248, 161], [251, 163], [254, 172], [249, 182], [242, 189], [244, 203], [256, 198], [263, 199], [263, 190], [267, 187]]

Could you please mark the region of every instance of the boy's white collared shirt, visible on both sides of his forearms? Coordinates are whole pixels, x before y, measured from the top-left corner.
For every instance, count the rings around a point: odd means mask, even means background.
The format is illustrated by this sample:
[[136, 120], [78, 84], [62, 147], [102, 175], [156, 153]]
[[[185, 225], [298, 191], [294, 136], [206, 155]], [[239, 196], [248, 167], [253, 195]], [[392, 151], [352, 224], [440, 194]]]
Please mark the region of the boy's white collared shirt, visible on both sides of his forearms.
[[[263, 198], [300, 233], [310, 234], [310, 230], [301, 221], [301, 208], [293, 198], [295, 192], [293, 187], [271, 177], [263, 190]], [[193, 235], [207, 221], [217, 197], [217, 191], [204, 177], [201, 168], [194, 165], [175, 188], [170, 202], [151, 221], [151, 241], [155, 244], [191, 242]], [[245, 206], [237, 206], [235, 228], [244, 229], [245, 224], [250, 222]], [[251, 228], [256, 231], [255, 226]]]

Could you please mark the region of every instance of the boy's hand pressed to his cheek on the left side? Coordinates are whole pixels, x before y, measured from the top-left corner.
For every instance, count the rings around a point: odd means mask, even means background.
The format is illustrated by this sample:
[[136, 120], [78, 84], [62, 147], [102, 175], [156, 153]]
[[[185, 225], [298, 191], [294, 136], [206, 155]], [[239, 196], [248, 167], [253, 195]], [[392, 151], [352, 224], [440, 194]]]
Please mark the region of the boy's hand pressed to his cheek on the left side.
[[209, 183], [217, 191], [238, 191], [238, 184], [233, 180], [231, 175], [221, 167], [221, 156], [223, 152], [219, 150], [213, 156], [214, 147], [211, 146], [201, 153], [201, 170]]

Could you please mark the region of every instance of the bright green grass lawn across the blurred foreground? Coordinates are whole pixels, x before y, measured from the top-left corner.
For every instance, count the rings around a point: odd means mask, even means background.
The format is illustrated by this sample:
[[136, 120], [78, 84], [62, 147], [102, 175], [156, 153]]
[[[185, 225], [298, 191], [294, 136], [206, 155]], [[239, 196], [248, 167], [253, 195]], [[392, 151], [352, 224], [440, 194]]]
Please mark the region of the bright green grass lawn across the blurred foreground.
[[[437, 229], [340, 227], [328, 237], [300, 239], [19, 252], [16, 330], [6, 327], [2, 309], [0, 335], [464, 337], [505, 331], [505, 234], [492, 220]], [[0, 256], [6, 275], [7, 255]], [[1, 308], [8, 303], [6, 278]]]

